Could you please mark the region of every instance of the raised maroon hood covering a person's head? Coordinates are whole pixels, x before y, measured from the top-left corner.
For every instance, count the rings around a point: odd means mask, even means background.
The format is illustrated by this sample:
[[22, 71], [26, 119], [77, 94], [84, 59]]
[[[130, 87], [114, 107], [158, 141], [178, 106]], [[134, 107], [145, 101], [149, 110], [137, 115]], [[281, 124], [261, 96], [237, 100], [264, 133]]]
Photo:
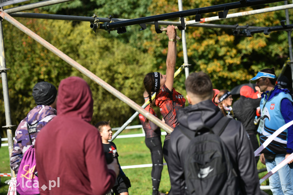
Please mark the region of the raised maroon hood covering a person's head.
[[91, 89], [80, 77], [62, 80], [58, 88], [57, 116], [77, 117], [91, 122], [93, 117], [93, 98]]

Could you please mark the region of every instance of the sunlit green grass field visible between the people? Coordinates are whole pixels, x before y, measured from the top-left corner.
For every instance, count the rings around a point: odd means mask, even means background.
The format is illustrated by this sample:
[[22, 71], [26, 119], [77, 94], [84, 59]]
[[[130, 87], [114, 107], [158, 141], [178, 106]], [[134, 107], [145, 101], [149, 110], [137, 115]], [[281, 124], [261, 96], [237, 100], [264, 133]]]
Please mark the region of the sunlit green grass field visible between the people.
[[[124, 132], [122, 132], [121, 134], [134, 133], [142, 133], [142, 130], [124, 130]], [[161, 139], [163, 143], [164, 136], [161, 136]], [[119, 163], [121, 166], [151, 163], [151, 154], [144, 143], [144, 137], [115, 139], [113, 142], [117, 146]], [[265, 165], [261, 164], [259, 161], [258, 169], [261, 168], [265, 168]], [[10, 173], [8, 146], [0, 148], [0, 171], [1, 173]], [[129, 194], [149, 195], [152, 193], [151, 167], [130, 168], [123, 169], [123, 171], [131, 181]], [[267, 172], [260, 173], [259, 177], [263, 177], [266, 173]], [[8, 185], [4, 182], [9, 179], [11, 178], [1, 177], [0, 195], [7, 194]], [[262, 185], [268, 185], [268, 181], [263, 182]], [[167, 166], [164, 166], [159, 191], [168, 193], [170, 187], [171, 185]], [[266, 190], [265, 192], [268, 194], [272, 194], [270, 190]]]

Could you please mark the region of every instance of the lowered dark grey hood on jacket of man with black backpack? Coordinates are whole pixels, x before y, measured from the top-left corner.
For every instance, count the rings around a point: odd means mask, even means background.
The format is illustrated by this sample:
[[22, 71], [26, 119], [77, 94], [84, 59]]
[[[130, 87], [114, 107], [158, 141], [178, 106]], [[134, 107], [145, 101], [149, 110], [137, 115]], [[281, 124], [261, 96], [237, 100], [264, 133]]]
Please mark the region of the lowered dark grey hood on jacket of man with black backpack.
[[180, 125], [190, 130], [196, 130], [202, 125], [213, 127], [223, 116], [212, 100], [202, 101], [177, 111], [177, 120]]

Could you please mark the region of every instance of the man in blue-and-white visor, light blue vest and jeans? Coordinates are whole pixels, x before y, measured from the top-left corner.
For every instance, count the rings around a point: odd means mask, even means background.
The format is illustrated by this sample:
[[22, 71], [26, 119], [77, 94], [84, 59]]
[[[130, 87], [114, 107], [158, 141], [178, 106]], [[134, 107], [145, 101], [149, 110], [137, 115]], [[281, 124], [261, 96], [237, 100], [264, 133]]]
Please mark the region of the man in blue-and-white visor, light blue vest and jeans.
[[[277, 129], [293, 120], [293, 101], [289, 90], [276, 84], [275, 68], [266, 68], [251, 79], [256, 81], [261, 95], [260, 144], [263, 144]], [[293, 152], [293, 127], [280, 133], [262, 151], [260, 161], [268, 172]], [[293, 194], [293, 163], [285, 165], [269, 177], [270, 189], [276, 194]]]

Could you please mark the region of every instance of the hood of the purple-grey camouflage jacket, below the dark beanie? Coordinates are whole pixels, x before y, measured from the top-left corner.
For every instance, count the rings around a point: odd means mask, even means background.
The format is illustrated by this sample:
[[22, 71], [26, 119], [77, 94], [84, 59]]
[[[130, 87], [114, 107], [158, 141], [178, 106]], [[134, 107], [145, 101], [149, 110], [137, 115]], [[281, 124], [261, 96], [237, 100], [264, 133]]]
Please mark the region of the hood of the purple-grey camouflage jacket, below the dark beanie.
[[56, 110], [50, 106], [38, 105], [33, 108], [26, 117], [29, 125], [34, 125], [48, 115], [56, 114]]

